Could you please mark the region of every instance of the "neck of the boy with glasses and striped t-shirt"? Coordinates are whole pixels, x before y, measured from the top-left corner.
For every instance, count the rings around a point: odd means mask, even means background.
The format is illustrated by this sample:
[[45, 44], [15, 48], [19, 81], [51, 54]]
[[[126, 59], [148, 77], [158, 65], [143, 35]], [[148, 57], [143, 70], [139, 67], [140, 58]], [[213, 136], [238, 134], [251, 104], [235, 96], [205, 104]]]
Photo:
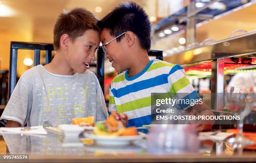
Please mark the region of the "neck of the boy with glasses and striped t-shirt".
[[133, 56], [135, 56], [136, 58], [133, 59], [131, 68], [128, 69], [129, 77], [133, 77], [136, 74], [142, 72], [142, 70], [145, 69], [147, 64], [150, 62], [148, 53], [145, 50], [143, 50], [143, 52], [138, 52]]

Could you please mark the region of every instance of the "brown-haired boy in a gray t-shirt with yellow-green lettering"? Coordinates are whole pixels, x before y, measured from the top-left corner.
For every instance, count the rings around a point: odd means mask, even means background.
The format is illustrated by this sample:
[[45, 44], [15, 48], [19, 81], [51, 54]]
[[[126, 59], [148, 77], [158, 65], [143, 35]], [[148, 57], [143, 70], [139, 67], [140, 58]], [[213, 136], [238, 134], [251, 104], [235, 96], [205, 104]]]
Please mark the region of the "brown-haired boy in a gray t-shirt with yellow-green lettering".
[[24, 72], [0, 118], [7, 127], [57, 126], [72, 118], [108, 117], [100, 84], [89, 68], [100, 44], [95, 16], [82, 8], [59, 15], [51, 63]]

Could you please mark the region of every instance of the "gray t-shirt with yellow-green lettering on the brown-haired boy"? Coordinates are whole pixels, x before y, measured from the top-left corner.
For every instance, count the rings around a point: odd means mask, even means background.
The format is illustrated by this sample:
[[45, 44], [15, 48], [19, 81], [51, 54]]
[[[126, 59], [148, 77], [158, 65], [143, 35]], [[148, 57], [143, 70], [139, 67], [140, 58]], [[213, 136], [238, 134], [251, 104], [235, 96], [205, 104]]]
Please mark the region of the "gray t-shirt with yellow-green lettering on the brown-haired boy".
[[71, 124], [72, 118], [108, 117], [104, 96], [93, 72], [59, 75], [38, 65], [24, 72], [0, 118], [24, 126]]

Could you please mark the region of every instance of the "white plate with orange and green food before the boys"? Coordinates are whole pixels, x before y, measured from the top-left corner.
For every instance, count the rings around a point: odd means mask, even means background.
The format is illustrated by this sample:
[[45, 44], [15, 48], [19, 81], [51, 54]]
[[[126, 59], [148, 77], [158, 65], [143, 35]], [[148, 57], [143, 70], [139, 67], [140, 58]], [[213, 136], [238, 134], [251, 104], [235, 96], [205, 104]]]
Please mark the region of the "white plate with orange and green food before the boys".
[[104, 146], [128, 145], [142, 138], [134, 126], [125, 128], [123, 123], [115, 120], [112, 115], [105, 123], [96, 124], [93, 133], [84, 133], [84, 136]]

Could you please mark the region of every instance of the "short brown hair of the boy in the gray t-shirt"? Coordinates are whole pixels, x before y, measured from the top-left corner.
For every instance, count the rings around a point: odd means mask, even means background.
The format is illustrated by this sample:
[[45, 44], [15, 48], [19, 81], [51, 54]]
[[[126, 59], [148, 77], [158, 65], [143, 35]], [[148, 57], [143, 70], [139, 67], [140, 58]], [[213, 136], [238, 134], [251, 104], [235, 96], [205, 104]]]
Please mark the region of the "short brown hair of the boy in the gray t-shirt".
[[60, 38], [67, 34], [71, 40], [82, 36], [86, 30], [95, 30], [100, 33], [97, 18], [92, 12], [84, 8], [74, 8], [67, 13], [61, 13], [54, 25], [54, 49], [59, 49]]

